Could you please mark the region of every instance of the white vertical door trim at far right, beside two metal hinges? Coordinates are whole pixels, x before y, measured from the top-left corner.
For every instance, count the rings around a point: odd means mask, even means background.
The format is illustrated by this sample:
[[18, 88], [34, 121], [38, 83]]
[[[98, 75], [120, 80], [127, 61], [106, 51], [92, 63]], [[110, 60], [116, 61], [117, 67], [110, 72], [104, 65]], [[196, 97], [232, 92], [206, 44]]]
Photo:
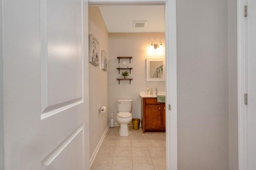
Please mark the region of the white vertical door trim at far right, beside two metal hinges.
[[248, 111], [244, 104], [244, 94], [247, 93], [247, 20], [244, 17], [246, 4], [247, 0], [237, 1], [239, 170], [248, 170]]

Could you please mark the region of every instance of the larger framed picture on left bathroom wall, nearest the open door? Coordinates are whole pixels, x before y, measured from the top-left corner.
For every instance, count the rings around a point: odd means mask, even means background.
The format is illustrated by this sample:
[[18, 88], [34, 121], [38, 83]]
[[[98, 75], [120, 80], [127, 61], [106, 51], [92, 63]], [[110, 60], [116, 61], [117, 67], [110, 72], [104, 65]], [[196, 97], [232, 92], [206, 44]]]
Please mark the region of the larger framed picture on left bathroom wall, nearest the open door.
[[100, 57], [100, 45], [95, 37], [89, 35], [89, 62], [95, 66], [99, 66], [99, 57]]

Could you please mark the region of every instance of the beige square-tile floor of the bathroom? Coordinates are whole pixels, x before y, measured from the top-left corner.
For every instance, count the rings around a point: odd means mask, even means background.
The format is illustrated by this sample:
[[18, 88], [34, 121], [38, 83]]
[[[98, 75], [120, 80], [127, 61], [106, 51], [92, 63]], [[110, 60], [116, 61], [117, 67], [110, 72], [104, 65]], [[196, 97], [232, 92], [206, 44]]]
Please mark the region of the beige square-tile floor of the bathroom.
[[142, 133], [130, 127], [128, 137], [109, 128], [90, 170], [165, 170], [165, 133]]

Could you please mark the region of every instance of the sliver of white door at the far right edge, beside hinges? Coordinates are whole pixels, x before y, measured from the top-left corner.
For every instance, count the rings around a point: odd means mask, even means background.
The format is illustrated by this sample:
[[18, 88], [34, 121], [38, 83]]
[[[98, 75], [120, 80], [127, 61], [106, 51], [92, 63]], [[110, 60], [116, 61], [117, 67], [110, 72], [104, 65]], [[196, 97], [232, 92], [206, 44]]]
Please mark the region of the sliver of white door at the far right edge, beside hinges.
[[256, 170], [256, 1], [247, 3], [248, 170]]

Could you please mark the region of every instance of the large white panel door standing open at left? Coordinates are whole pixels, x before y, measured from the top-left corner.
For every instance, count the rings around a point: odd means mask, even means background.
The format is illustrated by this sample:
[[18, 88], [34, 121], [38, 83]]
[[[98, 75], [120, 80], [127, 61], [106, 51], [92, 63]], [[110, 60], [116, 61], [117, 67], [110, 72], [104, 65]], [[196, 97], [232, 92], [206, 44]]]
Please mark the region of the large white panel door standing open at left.
[[88, 0], [3, 6], [5, 170], [89, 170]]

